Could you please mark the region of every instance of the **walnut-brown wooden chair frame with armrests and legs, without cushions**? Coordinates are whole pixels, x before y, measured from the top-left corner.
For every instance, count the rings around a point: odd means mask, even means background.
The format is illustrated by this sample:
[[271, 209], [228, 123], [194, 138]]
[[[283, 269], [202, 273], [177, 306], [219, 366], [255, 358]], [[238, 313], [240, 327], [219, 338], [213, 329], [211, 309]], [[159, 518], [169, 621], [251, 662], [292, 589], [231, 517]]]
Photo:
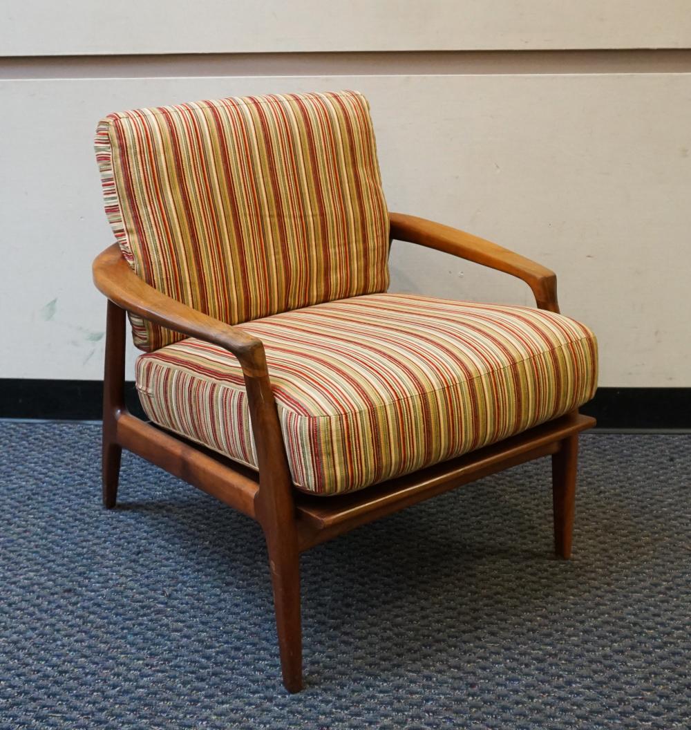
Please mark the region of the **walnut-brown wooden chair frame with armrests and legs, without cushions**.
[[[390, 213], [390, 239], [412, 242], [489, 266], [525, 281], [539, 308], [558, 312], [554, 272], [501, 246], [422, 218]], [[171, 299], [144, 283], [117, 245], [93, 264], [96, 287], [108, 298], [103, 405], [103, 502], [115, 507], [123, 448], [212, 494], [255, 519], [269, 552], [283, 683], [302, 688], [300, 553], [423, 499], [552, 456], [555, 552], [571, 556], [578, 434], [595, 420], [577, 411], [522, 434], [403, 477], [341, 496], [293, 488], [264, 348], [259, 339]], [[125, 313], [224, 347], [244, 374], [258, 473], [147, 423], [126, 410]]]

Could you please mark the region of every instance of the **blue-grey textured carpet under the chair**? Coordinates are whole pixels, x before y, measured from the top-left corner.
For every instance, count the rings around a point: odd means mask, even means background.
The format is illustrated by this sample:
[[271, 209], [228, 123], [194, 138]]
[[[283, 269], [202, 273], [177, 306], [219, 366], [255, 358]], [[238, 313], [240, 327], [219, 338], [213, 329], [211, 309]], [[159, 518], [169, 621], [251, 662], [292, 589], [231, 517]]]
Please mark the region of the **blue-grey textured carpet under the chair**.
[[260, 531], [99, 428], [0, 423], [0, 728], [688, 728], [691, 437], [582, 439], [306, 553], [306, 690], [279, 686]]

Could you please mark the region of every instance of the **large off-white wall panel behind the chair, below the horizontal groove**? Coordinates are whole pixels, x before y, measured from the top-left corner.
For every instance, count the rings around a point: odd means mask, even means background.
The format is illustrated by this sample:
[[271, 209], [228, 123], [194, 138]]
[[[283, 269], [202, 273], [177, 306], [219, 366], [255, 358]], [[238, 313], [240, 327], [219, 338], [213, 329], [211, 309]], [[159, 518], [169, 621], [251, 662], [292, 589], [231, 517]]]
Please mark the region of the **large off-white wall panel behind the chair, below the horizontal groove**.
[[[101, 377], [101, 115], [328, 88], [371, 100], [391, 210], [558, 272], [563, 311], [600, 339], [602, 385], [691, 386], [691, 74], [0, 82], [0, 377]], [[392, 272], [398, 291], [530, 301], [518, 280], [409, 245]]]

